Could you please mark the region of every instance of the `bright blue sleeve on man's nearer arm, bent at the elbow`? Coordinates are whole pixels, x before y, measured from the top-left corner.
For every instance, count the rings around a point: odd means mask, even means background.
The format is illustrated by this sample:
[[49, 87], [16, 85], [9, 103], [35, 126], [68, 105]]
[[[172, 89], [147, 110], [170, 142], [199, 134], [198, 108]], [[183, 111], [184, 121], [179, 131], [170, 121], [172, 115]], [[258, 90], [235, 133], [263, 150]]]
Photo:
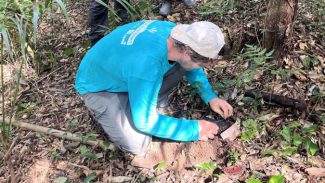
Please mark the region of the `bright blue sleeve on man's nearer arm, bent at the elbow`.
[[197, 120], [174, 118], [157, 113], [157, 98], [162, 84], [143, 78], [130, 77], [129, 99], [135, 127], [146, 134], [176, 141], [197, 141]]

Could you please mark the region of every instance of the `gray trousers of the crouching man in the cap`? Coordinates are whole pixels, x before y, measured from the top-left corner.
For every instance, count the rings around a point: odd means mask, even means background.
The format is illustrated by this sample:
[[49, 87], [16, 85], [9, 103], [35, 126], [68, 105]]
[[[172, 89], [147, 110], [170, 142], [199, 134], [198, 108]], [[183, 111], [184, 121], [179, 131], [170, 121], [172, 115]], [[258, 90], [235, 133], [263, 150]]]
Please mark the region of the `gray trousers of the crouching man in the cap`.
[[[168, 71], [159, 91], [158, 105], [165, 106], [168, 95], [185, 74], [185, 70], [176, 64]], [[133, 123], [128, 93], [101, 91], [81, 96], [95, 120], [102, 126], [109, 139], [121, 150], [137, 155], [145, 154], [151, 142], [151, 136], [138, 131]]]

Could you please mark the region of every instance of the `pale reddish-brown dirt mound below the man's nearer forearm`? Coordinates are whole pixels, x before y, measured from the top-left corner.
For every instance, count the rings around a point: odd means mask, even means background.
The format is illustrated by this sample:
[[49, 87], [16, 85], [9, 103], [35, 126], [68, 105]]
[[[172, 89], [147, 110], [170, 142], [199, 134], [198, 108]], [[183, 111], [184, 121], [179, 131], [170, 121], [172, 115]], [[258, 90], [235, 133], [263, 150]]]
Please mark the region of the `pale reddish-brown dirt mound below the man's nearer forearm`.
[[136, 156], [132, 165], [152, 169], [155, 165], [166, 162], [170, 169], [181, 170], [200, 163], [222, 162], [228, 150], [229, 146], [219, 138], [190, 143], [152, 142], [147, 154], [143, 157]]

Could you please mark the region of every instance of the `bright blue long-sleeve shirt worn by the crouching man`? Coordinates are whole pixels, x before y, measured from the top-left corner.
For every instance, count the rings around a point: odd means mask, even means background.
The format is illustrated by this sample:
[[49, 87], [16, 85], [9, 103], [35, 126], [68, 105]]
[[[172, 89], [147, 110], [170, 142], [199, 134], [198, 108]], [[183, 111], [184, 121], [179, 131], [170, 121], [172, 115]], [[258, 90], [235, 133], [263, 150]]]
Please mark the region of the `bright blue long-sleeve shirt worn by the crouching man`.
[[[172, 22], [144, 20], [118, 27], [85, 55], [75, 87], [79, 94], [128, 92], [135, 127], [143, 133], [177, 141], [199, 139], [197, 120], [178, 119], [156, 111], [168, 62], [167, 39]], [[190, 84], [208, 103], [216, 94], [202, 68], [186, 72]]]

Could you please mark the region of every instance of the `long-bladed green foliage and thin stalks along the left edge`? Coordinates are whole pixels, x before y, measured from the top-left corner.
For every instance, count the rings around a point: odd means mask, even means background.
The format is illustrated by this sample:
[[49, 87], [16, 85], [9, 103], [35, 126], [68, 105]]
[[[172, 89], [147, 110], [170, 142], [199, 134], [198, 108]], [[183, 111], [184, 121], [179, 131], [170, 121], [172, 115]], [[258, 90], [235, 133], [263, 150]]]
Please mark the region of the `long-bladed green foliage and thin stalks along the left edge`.
[[[28, 63], [36, 64], [34, 48], [37, 46], [37, 27], [38, 22], [47, 12], [56, 11], [54, 7], [61, 9], [61, 11], [67, 16], [64, 4], [61, 0], [47, 1], [32, 1], [32, 0], [6, 0], [0, 1], [0, 31], [1, 31], [1, 58], [0, 65], [1, 71], [3, 71], [3, 65], [7, 63], [18, 62], [20, 64], [16, 81], [20, 81], [23, 67]], [[31, 61], [31, 62], [30, 62]], [[4, 96], [5, 86], [3, 83], [3, 72], [1, 72], [2, 78], [2, 108], [4, 108], [5, 100], [9, 100]], [[8, 117], [9, 128], [2, 123], [2, 143], [7, 147], [6, 143], [9, 139], [11, 131], [11, 121], [15, 116], [17, 110], [26, 110], [29, 107], [25, 104], [16, 106], [19, 91], [19, 82], [16, 82], [13, 90], [14, 95], [12, 101], [12, 108], [9, 114], [3, 109], [3, 120]], [[8, 101], [7, 101], [8, 102]]]

